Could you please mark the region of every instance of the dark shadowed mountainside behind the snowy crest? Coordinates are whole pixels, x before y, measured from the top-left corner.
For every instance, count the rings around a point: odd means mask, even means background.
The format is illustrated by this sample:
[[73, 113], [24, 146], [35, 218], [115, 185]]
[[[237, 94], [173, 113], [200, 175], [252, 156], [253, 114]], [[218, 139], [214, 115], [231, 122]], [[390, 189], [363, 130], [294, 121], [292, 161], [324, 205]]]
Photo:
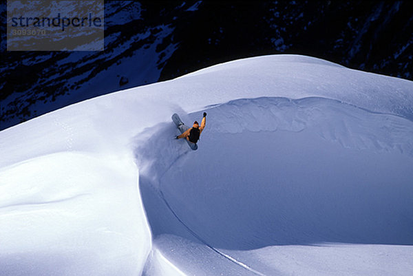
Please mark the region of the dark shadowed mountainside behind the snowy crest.
[[[6, 52], [0, 129], [80, 100], [260, 54], [413, 79], [410, 1], [105, 1], [105, 51]], [[6, 4], [1, 19], [6, 20]]]

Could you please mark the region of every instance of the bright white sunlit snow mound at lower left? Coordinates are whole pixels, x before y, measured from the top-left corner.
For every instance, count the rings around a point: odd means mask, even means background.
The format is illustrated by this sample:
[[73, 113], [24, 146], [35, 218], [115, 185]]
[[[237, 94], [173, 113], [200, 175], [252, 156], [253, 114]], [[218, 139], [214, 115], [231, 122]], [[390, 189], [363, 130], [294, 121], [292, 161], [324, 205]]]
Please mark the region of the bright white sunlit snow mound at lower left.
[[0, 175], [0, 275], [142, 271], [151, 235], [133, 163], [62, 152]]

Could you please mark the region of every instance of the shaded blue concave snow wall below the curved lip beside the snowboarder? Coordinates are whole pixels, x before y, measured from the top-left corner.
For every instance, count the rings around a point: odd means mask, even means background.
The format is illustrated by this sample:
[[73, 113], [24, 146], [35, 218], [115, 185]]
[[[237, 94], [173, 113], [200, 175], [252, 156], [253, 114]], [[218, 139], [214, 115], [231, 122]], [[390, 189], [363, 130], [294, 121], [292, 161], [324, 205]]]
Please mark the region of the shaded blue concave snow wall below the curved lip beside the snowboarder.
[[410, 120], [326, 98], [240, 99], [207, 113], [197, 153], [171, 139], [172, 123], [136, 149], [153, 237], [225, 250], [413, 244]]

